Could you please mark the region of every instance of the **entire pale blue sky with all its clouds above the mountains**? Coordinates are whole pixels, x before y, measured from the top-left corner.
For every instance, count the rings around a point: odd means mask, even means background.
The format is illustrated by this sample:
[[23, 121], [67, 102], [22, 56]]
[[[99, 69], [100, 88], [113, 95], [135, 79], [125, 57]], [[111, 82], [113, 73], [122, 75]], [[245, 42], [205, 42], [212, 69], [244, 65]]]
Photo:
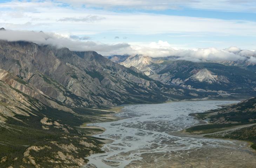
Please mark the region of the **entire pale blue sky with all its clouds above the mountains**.
[[[0, 27], [10, 30], [0, 39], [102, 55], [244, 59], [230, 47], [255, 56], [256, 1], [0, 0]], [[41, 41], [32, 30], [52, 38]]]

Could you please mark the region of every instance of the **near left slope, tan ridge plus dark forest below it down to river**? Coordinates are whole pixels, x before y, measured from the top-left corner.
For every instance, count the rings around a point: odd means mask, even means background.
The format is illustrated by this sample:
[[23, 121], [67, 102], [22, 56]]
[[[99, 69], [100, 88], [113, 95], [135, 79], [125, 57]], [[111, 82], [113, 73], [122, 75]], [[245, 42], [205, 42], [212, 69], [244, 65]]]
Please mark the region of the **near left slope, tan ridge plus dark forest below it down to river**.
[[109, 112], [73, 110], [0, 70], [0, 167], [78, 168], [85, 164], [85, 156], [100, 152], [102, 142], [89, 136], [100, 130], [79, 126], [107, 120], [100, 115]]

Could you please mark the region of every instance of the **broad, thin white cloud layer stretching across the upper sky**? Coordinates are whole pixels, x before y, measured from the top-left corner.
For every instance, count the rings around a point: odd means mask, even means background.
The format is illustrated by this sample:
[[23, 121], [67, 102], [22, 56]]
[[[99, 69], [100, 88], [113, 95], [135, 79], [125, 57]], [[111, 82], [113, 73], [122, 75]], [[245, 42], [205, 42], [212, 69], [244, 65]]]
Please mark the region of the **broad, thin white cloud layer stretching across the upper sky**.
[[[187, 0], [190, 1], [190, 0]], [[74, 3], [82, 1], [74, 1]], [[86, 1], [83, 1], [86, 2]], [[88, 1], [88, 3], [109, 3], [112, 1]], [[115, 1], [113, 3], [121, 3]], [[149, 3], [153, 1], [126, 1], [127, 4]], [[191, 0], [191, 3], [197, 1]], [[157, 1], [166, 6], [167, 1]], [[170, 3], [170, 2], [168, 2]], [[188, 2], [189, 3], [189, 2]], [[124, 3], [126, 4], [126, 3]], [[7, 29], [44, 30], [61, 33], [86, 32], [123, 34], [184, 34], [185, 36], [234, 35], [256, 36], [256, 22], [222, 20], [189, 16], [171, 16], [149, 13], [109, 12], [106, 10], [70, 8], [57, 2], [0, 3], [0, 25]], [[13, 15], [13, 13], [16, 13]], [[22, 14], [21, 14], [22, 13]], [[19, 15], [20, 18], [17, 18]], [[143, 23], [143, 24], [142, 24]], [[81, 34], [80, 34], [81, 35]], [[86, 35], [86, 34], [85, 34]], [[182, 36], [182, 35], [181, 35]]]

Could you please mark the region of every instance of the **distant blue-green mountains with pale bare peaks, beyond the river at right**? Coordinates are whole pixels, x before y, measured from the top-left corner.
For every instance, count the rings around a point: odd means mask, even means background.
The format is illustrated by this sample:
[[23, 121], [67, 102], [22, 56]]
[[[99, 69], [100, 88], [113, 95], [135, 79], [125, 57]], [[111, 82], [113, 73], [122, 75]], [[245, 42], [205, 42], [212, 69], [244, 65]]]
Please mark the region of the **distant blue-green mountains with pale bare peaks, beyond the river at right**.
[[[148, 77], [164, 84], [196, 91], [210, 91], [229, 97], [236, 93], [245, 97], [256, 94], [256, 74], [253, 66], [229, 66], [214, 62], [191, 62], [178, 58], [148, 58], [130, 56], [120, 64], [135, 66]], [[143, 61], [144, 60], [144, 61]]]

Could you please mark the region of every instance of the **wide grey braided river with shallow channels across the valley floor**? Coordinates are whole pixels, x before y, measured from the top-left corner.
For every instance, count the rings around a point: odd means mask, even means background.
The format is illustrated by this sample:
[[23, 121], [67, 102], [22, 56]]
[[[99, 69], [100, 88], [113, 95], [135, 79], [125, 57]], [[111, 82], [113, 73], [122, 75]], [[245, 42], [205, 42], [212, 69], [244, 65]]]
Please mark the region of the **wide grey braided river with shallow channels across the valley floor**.
[[[246, 143], [170, 135], [174, 131], [199, 123], [188, 116], [189, 113], [204, 112], [230, 103], [236, 101], [125, 106], [123, 112], [116, 115], [126, 119], [90, 124], [106, 128], [105, 132], [94, 135], [95, 137], [111, 139], [114, 142], [103, 146], [102, 150], [106, 153], [89, 156], [85, 167], [236, 167], [239, 163], [243, 167], [242, 161], [247, 162], [245, 167], [250, 167], [247, 159], [254, 159], [255, 153]], [[251, 164], [255, 163], [256, 161], [252, 161]]]

